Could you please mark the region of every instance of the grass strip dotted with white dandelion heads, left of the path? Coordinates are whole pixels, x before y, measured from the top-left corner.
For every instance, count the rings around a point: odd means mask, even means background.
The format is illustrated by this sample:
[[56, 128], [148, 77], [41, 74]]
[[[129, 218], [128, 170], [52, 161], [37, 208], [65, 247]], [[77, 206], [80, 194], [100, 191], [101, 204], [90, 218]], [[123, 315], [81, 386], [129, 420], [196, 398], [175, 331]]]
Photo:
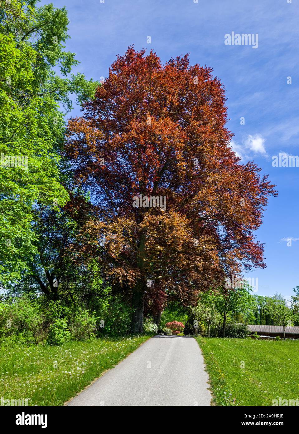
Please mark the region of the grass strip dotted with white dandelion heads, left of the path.
[[63, 405], [146, 339], [149, 336], [2, 348], [0, 399], [30, 398], [28, 405]]

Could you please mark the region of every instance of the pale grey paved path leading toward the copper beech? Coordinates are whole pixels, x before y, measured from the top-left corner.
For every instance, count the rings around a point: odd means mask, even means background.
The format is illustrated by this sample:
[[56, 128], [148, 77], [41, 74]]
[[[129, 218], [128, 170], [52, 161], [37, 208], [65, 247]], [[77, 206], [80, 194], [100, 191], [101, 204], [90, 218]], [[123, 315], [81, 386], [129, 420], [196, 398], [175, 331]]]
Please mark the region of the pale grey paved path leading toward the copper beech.
[[195, 339], [156, 335], [67, 405], [210, 405], [208, 387]]

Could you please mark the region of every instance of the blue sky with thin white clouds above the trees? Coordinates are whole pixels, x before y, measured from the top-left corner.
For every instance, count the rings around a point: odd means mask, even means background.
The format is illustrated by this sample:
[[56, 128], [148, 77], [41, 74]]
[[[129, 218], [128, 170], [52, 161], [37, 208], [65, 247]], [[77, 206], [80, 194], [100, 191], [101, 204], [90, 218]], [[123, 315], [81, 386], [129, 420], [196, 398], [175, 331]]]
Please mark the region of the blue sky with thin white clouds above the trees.
[[[290, 0], [289, 0], [290, 1]], [[49, 3], [42, 1], [40, 4]], [[223, 82], [232, 147], [254, 160], [277, 184], [257, 239], [264, 242], [267, 268], [257, 294], [282, 293], [299, 285], [299, 167], [272, 167], [272, 156], [299, 155], [299, 0], [52, 0], [70, 20], [67, 49], [90, 79], [107, 76], [117, 54], [129, 45], [153, 49], [162, 62], [190, 53]], [[225, 45], [231, 32], [258, 34], [258, 47]], [[148, 44], [147, 36], [151, 36]], [[291, 77], [292, 84], [287, 84]], [[78, 115], [75, 108], [71, 115]], [[240, 118], [245, 118], [245, 125]], [[283, 239], [291, 238], [291, 246]]]

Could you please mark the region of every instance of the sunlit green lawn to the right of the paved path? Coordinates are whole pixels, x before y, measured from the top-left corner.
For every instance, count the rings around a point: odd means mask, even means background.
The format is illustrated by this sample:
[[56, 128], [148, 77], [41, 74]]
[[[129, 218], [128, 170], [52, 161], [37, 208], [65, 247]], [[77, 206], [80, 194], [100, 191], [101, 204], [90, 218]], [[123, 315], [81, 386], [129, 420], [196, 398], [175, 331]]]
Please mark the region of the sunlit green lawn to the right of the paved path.
[[215, 405], [273, 405], [279, 397], [299, 398], [299, 340], [196, 339]]

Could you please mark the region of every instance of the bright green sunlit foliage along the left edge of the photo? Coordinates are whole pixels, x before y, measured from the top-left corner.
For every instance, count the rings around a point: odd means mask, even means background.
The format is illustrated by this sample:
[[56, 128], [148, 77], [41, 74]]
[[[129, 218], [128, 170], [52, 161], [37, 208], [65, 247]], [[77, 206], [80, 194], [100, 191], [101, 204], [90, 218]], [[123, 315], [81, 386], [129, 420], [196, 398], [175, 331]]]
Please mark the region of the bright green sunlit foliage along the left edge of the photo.
[[[0, 1], [0, 276], [20, 278], [35, 252], [33, 208], [63, 205], [59, 150], [65, 122], [59, 104], [71, 109], [97, 83], [71, 74], [77, 64], [64, 51], [68, 18], [64, 8], [36, 7], [35, 0]], [[53, 67], [59, 70], [59, 75]]]

